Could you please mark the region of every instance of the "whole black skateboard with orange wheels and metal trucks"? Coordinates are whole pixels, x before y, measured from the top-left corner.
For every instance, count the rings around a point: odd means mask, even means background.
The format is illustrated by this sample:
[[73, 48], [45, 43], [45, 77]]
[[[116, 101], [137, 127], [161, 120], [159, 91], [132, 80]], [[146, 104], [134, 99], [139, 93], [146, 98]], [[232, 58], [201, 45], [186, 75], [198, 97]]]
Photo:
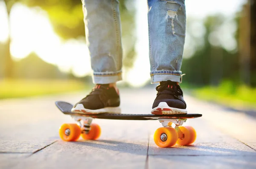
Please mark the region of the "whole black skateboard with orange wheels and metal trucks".
[[[85, 140], [96, 140], [101, 134], [98, 124], [92, 123], [94, 118], [113, 120], [158, 120], [163, 127], [154, 132], [154, 142], [159, 147], [172, 147], [175, 144], [185, 146], [192, 144], [196, 139], [195, 129], [191, 126], [181, 126], [189, 118], [201, 117], [201, 114], [84, 114], [72, 113], [72, 104], [65, 101], [56, 101], [56, 106], [65, 115], [70, 115], [77, 123], [62, 124], [59, 135], [63, 141], [76, 141], [81, 136]], [[172, 127], [174, 126], [174, 127]]]

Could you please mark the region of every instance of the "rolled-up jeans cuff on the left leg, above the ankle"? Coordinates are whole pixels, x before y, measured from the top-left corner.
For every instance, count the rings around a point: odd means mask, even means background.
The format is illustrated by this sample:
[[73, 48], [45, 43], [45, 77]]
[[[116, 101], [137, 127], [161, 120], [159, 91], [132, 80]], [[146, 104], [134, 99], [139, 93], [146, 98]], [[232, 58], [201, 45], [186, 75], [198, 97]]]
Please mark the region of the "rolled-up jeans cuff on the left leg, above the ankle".
[[93, 73], [93, 83], [94, 84], [108, 84], [108, 83], [115, 83], [122, 80], [122, 73], [117, 74], [103, 74], [97, 75]]

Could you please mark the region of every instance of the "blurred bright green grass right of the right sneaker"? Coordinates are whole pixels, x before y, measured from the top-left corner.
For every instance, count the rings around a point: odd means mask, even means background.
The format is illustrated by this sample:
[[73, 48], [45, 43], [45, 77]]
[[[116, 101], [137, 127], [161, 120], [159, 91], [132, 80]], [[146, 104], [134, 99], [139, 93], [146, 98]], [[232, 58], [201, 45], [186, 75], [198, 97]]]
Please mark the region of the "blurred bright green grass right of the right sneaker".
[[199, 99], [214, 101], [230, 107], [256, 109], [256, 88], [245, 85], [237, 86], [232, 82], [224, 81], [218, 87], [197, 88], [192, 93]]

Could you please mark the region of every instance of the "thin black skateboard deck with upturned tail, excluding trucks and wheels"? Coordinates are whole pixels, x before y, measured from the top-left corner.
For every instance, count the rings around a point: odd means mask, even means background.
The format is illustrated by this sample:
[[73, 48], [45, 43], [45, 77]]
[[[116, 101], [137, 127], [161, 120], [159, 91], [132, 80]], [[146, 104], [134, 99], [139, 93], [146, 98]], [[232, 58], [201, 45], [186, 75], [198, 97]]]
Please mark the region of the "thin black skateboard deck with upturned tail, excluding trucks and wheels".
[[71, 116], [86, 116], [92, 118], [101, 119], [113, 119], [113, 120], [158, 120], [159, 118], [198, 118], [201, 114], [172, 114], [172, 115], [153, 115], [153, 114], [113, 114], [113, 113], [100, 113], [100, 114], [84, 114], [84, 113], [72, 113], [72, 104], [65, 101], [56, 101], [56, 106], [62, 113]]

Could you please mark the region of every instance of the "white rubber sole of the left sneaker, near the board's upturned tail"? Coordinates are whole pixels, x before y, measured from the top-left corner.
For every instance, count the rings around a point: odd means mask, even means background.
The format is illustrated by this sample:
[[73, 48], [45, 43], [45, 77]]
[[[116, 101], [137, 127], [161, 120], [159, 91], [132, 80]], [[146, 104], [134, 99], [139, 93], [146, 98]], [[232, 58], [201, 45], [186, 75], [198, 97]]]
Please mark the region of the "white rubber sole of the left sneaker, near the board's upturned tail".
[[71, 112], [84, 113], [84, 114], [99, 114], [99, 113], [120, 114], [121, 109], [120, 109], [120, 107], [104, 107], [102, 109], [90, 110], [90, 109], [84, 108], [83, 104], [77, 104], [76, 107], [71, 109]]

